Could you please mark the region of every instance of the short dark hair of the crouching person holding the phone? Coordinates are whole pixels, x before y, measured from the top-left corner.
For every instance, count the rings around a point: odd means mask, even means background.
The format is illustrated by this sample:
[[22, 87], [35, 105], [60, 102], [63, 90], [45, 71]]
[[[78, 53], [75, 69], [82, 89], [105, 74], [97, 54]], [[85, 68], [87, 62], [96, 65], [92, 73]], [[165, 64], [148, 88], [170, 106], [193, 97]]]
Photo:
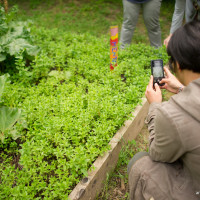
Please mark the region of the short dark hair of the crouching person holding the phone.
[[180, 69], [200, 73], [200, 21], [192, 21], [176, 30], [167, 47], [170, 62]]

